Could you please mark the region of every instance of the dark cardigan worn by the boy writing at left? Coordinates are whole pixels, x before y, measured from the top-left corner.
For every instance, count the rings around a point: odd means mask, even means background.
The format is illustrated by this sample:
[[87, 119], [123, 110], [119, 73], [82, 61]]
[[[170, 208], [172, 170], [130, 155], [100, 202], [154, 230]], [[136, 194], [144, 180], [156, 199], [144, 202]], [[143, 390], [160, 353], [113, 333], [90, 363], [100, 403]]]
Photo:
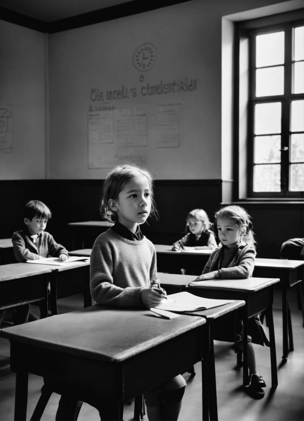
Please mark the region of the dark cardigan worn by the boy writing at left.
[[42, 257], [47, 257], [48, 255], [59, 257], [60, 254], [66, 254], [68, 256], [68, 251], [61, 244], [56, 243], [53, 235], [42, 231], [38, 238], [39, 244], [37, 244], [37, 248], [27, 228], [14, 232], [12, 243], [16, 260], [37, 260], [38, 255]]

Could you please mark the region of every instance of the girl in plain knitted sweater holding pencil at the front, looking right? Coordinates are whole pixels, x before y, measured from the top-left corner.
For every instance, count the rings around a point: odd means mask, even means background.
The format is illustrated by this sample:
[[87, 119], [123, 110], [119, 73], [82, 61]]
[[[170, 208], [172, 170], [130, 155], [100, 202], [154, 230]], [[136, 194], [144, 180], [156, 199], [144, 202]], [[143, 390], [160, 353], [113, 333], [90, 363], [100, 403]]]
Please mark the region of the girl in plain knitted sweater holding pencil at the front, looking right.
[[[104, 183], [102, 214], [115, 225], [98, 236], [91, 253], [90, 286], [97, 303], [144, 309], [155, 307], [163, 299], [155, 247], [139, 227], [150, 213], [155, 213], [151, 174], [131, 165], [114, 168]], [[185, 379], [178, 375], [147, 390], [149, 420], [177, 420], [185, 387]], [[56, 419], [68, 419], [71, 404], [62, 396]], [[109, 419], [103, 408], [99, 413], [102, 419]]]

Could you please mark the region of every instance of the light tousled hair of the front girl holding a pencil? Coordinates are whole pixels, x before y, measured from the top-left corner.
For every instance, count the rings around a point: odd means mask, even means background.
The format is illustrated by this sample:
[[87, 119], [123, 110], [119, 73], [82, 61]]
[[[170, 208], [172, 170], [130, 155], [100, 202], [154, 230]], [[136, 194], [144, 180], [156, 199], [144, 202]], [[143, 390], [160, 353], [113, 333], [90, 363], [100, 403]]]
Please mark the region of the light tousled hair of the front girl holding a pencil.
[[107, 178], [104, 183], [102, 203], [100, 206], [100, 213], [102, 214], [103, 218], [107, 219], [110, 222], [117, 221], [116, 212], [110, 208], [109, 200], [116, 200], [124, 186], [129, 181], [133, 180], [135, 177], [138, 176], [144, 176], [149, 181], [151, 193], [150, 215], [153, 215], [157, 218], [157, 210], [155, 207], [155, 202], [153, 200], [154, 177], [151, 173], [149, 173], [149, 171], [142, 169], [135, 164], [118, 165], [107, 175]]

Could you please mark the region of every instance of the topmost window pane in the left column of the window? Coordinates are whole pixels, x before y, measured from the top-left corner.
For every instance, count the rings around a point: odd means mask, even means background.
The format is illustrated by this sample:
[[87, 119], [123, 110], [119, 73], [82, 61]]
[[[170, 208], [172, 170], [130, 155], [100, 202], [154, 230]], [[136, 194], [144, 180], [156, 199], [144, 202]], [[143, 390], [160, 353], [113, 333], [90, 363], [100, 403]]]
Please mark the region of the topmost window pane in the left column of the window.
[[256, 67], [284, 63], [284, 32], [257, 35]]

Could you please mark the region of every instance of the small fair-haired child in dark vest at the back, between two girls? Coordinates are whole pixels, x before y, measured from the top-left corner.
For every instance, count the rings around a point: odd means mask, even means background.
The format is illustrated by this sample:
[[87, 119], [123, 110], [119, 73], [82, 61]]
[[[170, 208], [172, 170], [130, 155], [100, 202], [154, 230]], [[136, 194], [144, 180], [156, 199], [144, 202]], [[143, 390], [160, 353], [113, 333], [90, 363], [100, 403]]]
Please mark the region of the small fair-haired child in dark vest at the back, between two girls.
[[173, 244], [172, 250], [208, 250], [217, 247], [214, 232], [210, 227], [208, 215], [203, 209], [193, 209], [187, 218], [190, 232]]

